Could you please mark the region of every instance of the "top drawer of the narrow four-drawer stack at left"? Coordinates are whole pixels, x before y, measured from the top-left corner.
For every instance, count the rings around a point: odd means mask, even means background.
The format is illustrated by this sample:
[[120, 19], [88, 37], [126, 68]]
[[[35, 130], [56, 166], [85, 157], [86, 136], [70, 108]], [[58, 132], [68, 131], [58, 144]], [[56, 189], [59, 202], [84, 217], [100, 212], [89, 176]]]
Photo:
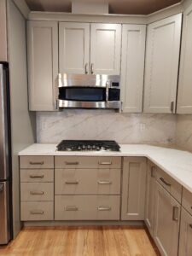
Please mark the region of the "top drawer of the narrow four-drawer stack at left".
[[20, 168], [42, 169], [54, 168], [54, 156], [27, 155], [20, 156]]

